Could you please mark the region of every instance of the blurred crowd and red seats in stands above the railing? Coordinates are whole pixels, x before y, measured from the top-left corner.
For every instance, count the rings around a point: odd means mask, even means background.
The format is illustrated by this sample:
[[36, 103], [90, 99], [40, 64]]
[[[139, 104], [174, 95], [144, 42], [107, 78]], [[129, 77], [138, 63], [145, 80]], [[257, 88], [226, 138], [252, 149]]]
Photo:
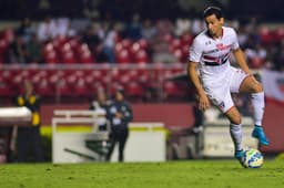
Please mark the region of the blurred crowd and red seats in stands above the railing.
[[[252, 19], [246, 24], [227, 22], [252, 69], [283, 70], [284, 27], [270, 29]], [[185, 63], [196, 33], [204, 29], [199, 19], [73, 21], [45, 17], [33, 22], [24, 18], [18, 28], [0, 33], [0, 62], [20, 63]]]

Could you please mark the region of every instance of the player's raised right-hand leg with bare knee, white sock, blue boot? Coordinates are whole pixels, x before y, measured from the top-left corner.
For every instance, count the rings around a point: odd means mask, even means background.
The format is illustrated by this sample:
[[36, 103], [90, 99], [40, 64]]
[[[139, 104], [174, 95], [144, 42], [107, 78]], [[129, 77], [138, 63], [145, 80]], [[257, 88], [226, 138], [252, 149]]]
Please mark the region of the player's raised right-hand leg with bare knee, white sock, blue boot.
[[250, 93], [252, 96], [252, 105], [254, 109], [254, 129], [252, 136], [260, 140], [260, 144], [268, 145], [263, 127], [262, 119], [264, 114], [264, 92], [262, 84], [257, 82], [253, 75], [245, 77], [240, 86], [241, 93]]

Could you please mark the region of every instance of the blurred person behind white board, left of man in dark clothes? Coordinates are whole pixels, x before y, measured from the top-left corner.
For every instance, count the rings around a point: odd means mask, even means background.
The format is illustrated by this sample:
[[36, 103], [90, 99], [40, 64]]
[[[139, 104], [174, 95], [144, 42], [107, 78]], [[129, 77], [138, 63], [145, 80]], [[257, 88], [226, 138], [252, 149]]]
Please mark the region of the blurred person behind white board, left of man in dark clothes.
[[109, 111], [110, 102], [106, 98], [104, 88], [99, 88], [95, 97], [97, 100], [90, 103], [90, 109], [105, 114], [98, 117], [97, 124], [99, 126], [99, 130], [109, 130], [106, 114]]

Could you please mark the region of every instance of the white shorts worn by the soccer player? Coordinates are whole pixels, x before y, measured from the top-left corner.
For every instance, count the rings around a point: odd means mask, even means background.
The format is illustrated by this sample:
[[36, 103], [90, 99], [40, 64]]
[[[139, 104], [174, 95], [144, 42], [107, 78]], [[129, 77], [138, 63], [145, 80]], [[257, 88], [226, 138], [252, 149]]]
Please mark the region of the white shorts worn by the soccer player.
[[202, 80], [202, 83], [211, 102], [220, 111], [226, 113], [234, 106], [231, 93], [239, 93], [240, 86], [246, 76], [247, 74], [242, 70], [231, 67], [224, 75]]

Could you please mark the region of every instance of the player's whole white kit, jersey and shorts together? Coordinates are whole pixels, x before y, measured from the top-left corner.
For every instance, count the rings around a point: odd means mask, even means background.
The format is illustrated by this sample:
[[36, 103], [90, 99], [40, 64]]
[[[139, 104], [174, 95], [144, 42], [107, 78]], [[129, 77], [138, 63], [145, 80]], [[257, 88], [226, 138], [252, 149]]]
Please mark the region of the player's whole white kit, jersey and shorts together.
[[207, 31], [200, 33], [193, 41], [189, 59], [199, 63], [202, 85], [211, 102], [226, 113], [234, 106], [231, 93], [239, 93], [247, 74], [229, 62], [231, 50], [240, 48], [235, 31], [226, 27], [222, 31], [220, 39], [212, 39]]

